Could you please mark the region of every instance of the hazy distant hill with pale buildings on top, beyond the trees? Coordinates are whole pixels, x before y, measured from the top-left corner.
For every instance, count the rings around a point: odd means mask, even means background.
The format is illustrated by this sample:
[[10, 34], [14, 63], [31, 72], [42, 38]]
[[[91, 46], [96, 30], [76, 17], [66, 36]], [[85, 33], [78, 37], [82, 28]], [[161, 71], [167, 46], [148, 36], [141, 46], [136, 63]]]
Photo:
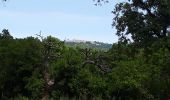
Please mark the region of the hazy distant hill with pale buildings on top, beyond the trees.
[[85, 40], [65, 40], [65, 44], [70, 47], [93, 48], [104, 51], [107, 51], [112, 47], [112, 44], [109, 43]]

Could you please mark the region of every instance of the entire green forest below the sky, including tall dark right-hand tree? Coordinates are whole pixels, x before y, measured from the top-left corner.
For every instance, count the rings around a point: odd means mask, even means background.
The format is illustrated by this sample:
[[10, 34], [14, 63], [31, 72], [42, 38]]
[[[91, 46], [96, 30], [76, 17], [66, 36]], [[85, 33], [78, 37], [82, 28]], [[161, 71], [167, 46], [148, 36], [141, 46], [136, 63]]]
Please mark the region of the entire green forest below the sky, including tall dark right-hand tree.
[[170, 0], [126, 0], [112, 13], [119, 40], [108, 51], [3, 29], [0, 100], [169, 100]]

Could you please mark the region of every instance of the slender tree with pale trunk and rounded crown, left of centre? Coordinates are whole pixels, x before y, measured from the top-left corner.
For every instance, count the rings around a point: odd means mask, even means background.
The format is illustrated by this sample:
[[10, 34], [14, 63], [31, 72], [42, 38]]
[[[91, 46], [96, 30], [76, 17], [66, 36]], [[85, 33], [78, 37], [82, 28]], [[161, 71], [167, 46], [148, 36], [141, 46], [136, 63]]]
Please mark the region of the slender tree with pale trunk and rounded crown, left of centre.
[[47, 100], [49, 98], [49, 93], [54, 85], [54, 78], [49, 72], [50, 63], [56, 61], [58, 58], [61, 58], [62, 50], [64, 48], [63, 42], [59, 39], [48, 36], [47, 38], [42, 38], [42, 72], [45, 81], [45, 89], [42, 100]]

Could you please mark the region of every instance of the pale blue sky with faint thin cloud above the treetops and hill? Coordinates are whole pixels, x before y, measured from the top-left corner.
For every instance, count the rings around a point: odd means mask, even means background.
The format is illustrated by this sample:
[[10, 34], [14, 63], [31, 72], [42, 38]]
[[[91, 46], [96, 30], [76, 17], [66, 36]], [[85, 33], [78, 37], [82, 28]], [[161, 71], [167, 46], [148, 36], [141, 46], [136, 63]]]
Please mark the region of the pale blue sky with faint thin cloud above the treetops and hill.
[[95, 6], [93, 0], [9, 0], [0, 2], [0, 30], [8, 29], [12, 36], [24, 38], [52, 35], [61, 40], [79, 39], [117, 42], [111, 26], [113, 0]]

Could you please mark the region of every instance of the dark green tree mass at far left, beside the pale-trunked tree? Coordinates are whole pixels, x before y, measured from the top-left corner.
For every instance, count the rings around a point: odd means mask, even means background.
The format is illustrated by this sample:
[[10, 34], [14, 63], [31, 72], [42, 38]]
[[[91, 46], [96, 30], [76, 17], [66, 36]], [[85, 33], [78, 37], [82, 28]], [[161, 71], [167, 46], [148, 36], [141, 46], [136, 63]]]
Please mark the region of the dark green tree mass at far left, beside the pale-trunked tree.
[[29, 83], [27, 80], [41, 62], [40, 50], [40, 41], [37, 38], [0, 38], [0, 99], [30, 95], [26, 88]]

